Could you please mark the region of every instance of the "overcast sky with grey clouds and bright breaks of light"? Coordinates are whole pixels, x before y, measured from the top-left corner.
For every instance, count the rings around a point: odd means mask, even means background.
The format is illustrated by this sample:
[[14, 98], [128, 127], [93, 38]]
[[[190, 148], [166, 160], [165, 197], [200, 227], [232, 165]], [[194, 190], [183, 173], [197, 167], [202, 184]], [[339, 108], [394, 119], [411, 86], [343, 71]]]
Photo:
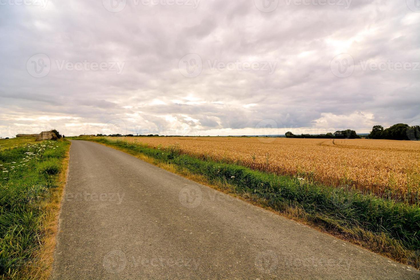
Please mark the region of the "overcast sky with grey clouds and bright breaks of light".
[[420, 123], [418, 0], [0, 0], [0, 136]]

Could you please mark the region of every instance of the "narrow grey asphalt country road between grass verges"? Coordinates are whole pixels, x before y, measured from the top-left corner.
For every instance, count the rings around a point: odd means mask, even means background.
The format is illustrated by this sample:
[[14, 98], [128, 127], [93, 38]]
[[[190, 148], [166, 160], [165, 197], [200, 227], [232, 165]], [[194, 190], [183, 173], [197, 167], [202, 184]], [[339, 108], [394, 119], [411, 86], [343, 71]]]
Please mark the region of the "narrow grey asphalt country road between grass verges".
[[53, 279], [420, 279], [411, 267], [72, 141]]

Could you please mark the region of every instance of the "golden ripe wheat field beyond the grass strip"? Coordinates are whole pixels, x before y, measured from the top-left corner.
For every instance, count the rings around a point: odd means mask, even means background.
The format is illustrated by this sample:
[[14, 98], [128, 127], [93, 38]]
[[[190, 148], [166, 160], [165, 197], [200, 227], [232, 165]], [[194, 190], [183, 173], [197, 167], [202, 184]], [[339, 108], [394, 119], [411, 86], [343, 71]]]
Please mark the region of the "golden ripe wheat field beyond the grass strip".
[[[121, 140], [121, 138], [118, 138]], [[417, 193], [420, 142], [372, 139], [246, 137], [126, 137], [150, 147], [176, 145], [195, 157], [237, 162], [256, 170], [351, 185], [376, 194]]]

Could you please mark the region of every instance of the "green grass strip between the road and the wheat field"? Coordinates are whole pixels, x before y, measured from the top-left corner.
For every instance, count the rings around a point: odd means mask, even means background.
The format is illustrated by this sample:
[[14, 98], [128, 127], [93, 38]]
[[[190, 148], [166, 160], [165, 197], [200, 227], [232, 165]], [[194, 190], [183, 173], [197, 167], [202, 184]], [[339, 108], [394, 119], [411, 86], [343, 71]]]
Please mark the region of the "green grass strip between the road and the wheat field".
[[202, 160], [181, 154], [176, 147], [152, 149], [147, 145], [105, 138], [96, 141], [157, 163], [175, 166], [178, 173], [204, 176], [209, 184], [291, 218], [326, 230], [367, 249], [417, 266], [420, 250], [420, 208], [357, 191], [323, 186], [289, 176], [247, 167]]

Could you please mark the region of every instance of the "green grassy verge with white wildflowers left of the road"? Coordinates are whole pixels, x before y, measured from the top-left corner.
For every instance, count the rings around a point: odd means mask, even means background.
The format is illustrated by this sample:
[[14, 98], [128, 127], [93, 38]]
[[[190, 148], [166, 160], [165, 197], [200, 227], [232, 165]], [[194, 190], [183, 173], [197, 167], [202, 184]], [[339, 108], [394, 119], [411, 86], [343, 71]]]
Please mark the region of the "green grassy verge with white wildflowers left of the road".
[[58, 186], [70, 145], [69, 141], [24, 142], [0, 151], [0, 279], [31, 278], [28, 273], [37, 265], [49, 215], [42, 206]]

